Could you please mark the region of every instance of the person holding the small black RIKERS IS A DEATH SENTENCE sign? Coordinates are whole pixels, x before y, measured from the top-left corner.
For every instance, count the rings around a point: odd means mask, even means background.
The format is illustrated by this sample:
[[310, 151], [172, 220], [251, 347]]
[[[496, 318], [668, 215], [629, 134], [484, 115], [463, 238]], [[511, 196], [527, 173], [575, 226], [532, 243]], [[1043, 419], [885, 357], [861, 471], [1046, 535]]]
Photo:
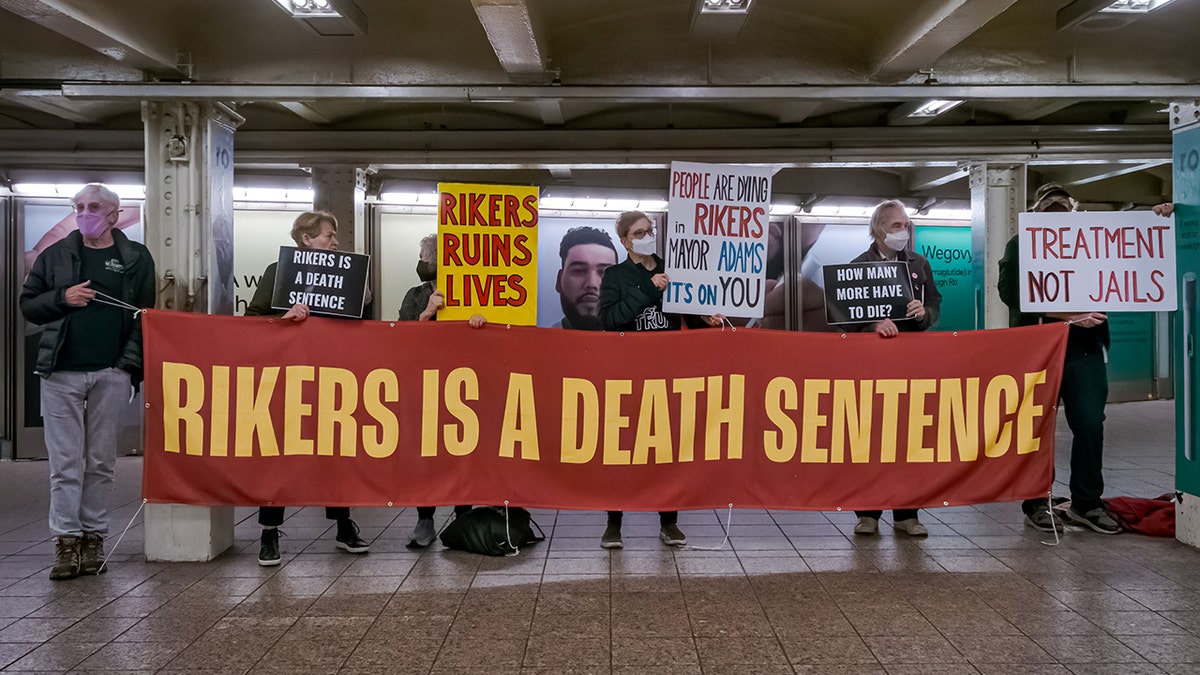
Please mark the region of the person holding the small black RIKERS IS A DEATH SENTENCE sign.
[[[337, 219], [329, 211], [306, 211], [292, 225], [292, 239], [301, 249], [323, 251], [337, 250]], [[246, 316], [280, 316], [286, 321], [301, 322], [308, 318], [308, 306], [298, 304], [286, 312], [271, 307], [275, 291], [275, 273], [278, 263], [266, 265], [263, 277], [254, 289], [254, 297], [246, 307]], [[335, 542], [338, 549], [350, 554], [365, 554], [371, 544], [359, 537], [359, 526], [350, 519], [349, 507], [325, 507], [325, 518], [337, 522]], [[258, 509], [258, 524], [263, 526], [258, 565], [272, 567], [280, 563], [280, 525], [283, 525], [283, 507], [264, 506]]]

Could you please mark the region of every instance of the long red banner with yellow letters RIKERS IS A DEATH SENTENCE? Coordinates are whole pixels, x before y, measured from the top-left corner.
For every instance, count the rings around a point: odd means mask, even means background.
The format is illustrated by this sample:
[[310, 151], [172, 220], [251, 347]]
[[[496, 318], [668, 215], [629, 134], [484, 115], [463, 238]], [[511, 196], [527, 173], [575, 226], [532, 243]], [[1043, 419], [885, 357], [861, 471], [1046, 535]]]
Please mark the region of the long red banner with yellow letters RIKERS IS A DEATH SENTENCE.
[[1044, 495], [1066, 324], [618, 334], [150, 311], [144, 496], [919, 508]]

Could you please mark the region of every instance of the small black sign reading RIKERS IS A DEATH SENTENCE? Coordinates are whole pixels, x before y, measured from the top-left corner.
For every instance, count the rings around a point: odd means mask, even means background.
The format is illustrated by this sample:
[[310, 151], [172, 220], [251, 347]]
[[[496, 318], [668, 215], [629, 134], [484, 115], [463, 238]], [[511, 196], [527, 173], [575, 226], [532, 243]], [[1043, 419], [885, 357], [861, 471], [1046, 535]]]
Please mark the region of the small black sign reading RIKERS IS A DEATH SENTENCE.
[[371, 256], [280, 246], [271, 306], [308, 305], [316, 315], [362, 316]]

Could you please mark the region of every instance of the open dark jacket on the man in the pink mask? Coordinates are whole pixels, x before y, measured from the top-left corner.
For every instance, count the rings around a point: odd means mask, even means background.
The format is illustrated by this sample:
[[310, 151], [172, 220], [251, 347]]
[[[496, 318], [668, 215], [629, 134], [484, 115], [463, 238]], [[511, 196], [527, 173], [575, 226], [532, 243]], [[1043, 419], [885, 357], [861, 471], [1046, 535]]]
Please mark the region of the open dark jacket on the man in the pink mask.
[[[136, 307], [152, 307], [156, 277], [150, 251], [115, 228], [113, 244], [125, 265], [119, 299]], [[30, 323], [44, 327], [37, 344], [36, 372], [42, 377], [54, 372], [71, 315], [78, 309], [66, 304], [65, 295], [67, 288], [84, 281], [79, 277], [83, 245], [83, 235], [74, 231], [42, 251], [20, 292], [20, 313]], [[114, 365], [128, 371], [133, 382], [142, 382], [142, 321], [132, 311], [121, 312], [121, 340], [125, 347]]]

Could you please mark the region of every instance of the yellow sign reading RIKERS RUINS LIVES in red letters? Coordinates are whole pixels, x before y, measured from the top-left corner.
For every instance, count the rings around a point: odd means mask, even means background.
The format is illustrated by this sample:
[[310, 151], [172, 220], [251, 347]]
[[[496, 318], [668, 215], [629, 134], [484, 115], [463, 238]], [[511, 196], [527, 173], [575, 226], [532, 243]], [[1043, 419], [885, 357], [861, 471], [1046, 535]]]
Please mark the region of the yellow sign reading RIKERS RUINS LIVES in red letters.
[[538, 323], [538, 189], [438, 184], [439, 319]]

